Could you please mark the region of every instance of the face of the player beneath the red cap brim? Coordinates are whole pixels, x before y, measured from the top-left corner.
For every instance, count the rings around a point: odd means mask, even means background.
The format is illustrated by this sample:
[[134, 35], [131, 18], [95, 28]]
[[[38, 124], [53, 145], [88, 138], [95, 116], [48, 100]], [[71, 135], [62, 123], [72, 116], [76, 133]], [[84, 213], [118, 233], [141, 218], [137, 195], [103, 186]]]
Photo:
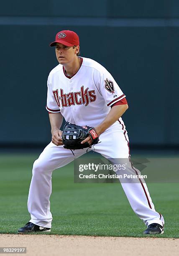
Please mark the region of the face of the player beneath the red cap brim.
[[55, 51], [57, 60], [63, 65], [74, 60], [79, 51], [79, 46], [73, 48], [73, 46], [56, 43]]

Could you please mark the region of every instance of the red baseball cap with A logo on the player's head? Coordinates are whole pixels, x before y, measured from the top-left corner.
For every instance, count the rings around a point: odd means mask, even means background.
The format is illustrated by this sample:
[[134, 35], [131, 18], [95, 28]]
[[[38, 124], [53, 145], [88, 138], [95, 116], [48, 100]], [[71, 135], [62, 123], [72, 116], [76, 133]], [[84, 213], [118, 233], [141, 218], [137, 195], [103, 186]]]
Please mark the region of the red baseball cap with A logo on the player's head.
[[74, 31], [62, 30], [56, 34], [55, 41], [50, 46], [55, 46], [56, 43], [66, 46], [77, 46], [79, 45], [79, 36]]

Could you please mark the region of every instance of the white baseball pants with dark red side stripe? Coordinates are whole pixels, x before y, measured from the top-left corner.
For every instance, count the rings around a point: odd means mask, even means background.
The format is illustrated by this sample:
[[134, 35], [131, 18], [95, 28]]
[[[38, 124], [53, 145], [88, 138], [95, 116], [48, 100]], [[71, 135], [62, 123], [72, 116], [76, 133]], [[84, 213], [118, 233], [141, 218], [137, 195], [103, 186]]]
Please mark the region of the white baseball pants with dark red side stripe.
[[[122, 121], [113, 125], [113, 129], [109, 128], [105, 133], [102, 133], [100, 141], [101, 143], [95, 145], [95, 152], [102, 154], [107, 159], [114, 159], [113, 164], [115, 159], [128, 159], [128, 135]], [[49, 199], [52, 191], [52, 172], [54, 169], [69, 164], [74, 158], [85, 153], [86, 149], [79, 149], [74, 151], [75, 156], [73, 156], [72, 152], [63, 146], [56, 146], [52, 142], [46, 146], [33, 164], [33, 175], [28, 195], [28, 211], [31, 214], [30, 222], [51, 228], [52, 215]], [[138, 170], [137, 172], [140, 174]], [[148, 188], [142, 180], [138, 183], [121, 183], [121, 185], [133, 211], [147, 226], [151, 223], [164, 225], [164, 218], [160, 213], [156, 212]]]

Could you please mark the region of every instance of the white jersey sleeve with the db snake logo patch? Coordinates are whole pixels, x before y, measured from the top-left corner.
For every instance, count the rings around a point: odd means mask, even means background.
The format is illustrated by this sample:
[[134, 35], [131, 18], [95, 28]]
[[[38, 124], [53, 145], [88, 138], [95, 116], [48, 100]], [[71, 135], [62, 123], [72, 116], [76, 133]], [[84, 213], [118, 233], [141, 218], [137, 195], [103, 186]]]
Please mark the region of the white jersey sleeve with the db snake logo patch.
[[100, 72], [100, 78], [98, 81], [100, 93], [102, 94], [108, 107], [113, 106], [115, 103], [125, 98], [125, 94], [106, 69]]

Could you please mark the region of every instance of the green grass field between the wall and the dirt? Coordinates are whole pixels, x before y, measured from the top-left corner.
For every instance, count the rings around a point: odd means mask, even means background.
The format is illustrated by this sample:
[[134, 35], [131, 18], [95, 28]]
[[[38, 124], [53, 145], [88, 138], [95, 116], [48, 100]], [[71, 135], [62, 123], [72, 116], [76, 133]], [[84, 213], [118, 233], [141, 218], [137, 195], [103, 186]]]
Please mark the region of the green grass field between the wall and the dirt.
[[[17, 233], [30, 215], [28, 189], [38, 154], [0, 155], [0, 233]], [[145, 225], [130, 208], [120, 184], [75, 184], [73, 163], [52, 176], [51, 233], [142, 237]], [[163, 235], [179, 238], [179, 184], [148, 184], [156, 210], [164, 215]]]

